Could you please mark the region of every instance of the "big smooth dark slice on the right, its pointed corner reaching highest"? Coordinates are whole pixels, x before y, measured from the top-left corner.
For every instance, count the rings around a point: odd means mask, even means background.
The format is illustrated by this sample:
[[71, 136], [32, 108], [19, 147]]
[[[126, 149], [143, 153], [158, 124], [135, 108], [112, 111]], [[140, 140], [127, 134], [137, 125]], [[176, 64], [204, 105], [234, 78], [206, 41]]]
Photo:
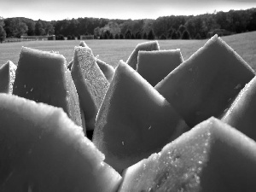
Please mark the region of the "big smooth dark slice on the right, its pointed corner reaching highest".
[[155, 89], [193, 127], [219, 117], [255, 73], [246, 61], [214, 36]]

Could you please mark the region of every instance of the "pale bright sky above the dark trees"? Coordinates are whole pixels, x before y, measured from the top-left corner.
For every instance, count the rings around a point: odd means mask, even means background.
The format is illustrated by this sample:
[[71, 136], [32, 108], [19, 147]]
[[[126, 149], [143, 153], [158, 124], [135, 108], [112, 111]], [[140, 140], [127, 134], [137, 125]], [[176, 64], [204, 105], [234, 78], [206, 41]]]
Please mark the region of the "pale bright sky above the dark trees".
[[256, 0], [1, 0], [0, 16], [32, 20], [79, 17], [135, 20], [250, 8], [256, 8]]

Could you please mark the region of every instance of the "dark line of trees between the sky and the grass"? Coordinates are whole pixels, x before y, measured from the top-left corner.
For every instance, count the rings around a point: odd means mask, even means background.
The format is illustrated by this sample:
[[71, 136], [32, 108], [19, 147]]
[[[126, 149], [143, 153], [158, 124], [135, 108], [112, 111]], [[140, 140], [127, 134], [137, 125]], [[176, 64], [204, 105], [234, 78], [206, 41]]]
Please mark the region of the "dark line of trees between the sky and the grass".
[[170, 15], [156, 20], [109, 20], [78, 18], [72, 20], [31, 20], [23, 17], [0, 17], [0, 41], [22, 35], [44, 36], [55, 34], [56, 39], [94, 35], [100, 39], [203, 39], [212, 34], [220, 36], [256, 31], [256, 8], [230, 10], [204, 15]]

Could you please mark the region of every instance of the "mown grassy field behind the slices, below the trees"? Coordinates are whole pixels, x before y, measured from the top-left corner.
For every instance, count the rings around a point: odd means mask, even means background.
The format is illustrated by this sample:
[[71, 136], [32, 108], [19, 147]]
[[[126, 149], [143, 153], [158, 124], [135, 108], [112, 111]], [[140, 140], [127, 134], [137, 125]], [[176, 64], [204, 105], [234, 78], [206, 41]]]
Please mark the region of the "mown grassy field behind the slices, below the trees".
[[[247, 63], [256, 70], [256, 32], [247, 32], [223, 37]], [[146, 40], [87, 40], [86, 44], [92, 49], [94, 55], [99, 55], [102, 61], [118, 65], [119, 60], [126, 61], [137, 44]], [[205, 40], [158, 40], [160, 49], [181, 49], [183, 59], [186, 60], [195, 51], [201, 48]], [[79, 45], [79, 40], [71, 41], [33, 41], [0, 44], [0, 65], [10, 60], [15, 64], [19, 61], [22, 46], [41, 49], [55, 50], [64, 55], [68, 61], [72, 60], [73, 48]]]

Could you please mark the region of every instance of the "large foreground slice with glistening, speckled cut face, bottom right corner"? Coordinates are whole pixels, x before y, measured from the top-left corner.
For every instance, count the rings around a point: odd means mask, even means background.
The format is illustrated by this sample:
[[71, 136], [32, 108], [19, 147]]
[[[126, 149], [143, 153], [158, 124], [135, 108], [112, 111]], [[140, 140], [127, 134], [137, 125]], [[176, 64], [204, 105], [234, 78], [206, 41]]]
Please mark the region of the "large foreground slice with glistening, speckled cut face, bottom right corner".
[[208, 119], [129, 167], [119, 192], [256, 191], [256, 143], [218, 119]]

